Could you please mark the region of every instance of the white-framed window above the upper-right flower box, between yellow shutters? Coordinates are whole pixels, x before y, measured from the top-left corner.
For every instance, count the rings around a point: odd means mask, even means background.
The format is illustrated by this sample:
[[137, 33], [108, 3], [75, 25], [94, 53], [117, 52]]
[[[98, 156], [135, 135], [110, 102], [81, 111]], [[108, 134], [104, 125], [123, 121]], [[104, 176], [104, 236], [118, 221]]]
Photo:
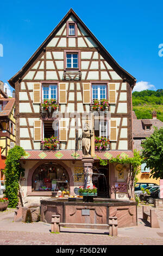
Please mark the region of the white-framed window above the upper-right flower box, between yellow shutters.
[[105, 84], [93, 84], [92, 85], [92, 100], [106, 99], [106, 85]]

